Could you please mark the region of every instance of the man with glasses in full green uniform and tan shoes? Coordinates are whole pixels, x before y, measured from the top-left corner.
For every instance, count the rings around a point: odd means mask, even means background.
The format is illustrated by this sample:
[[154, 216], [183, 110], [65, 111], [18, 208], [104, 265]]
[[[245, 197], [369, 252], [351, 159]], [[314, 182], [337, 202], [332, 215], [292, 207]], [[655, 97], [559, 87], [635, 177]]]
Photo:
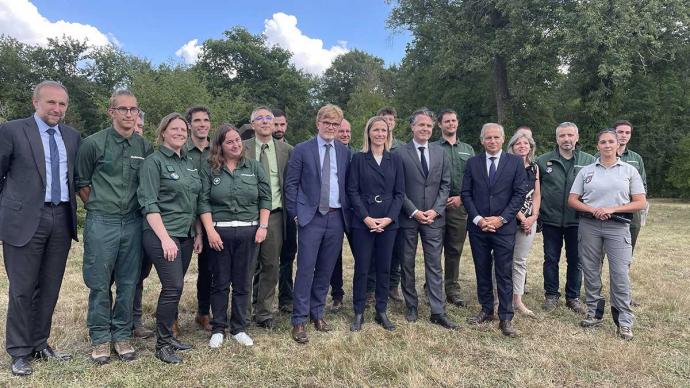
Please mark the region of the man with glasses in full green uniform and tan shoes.
[[[123, 361], [136, 358], [130, 344], [132, 302], [141, 267], [142, 217], [137, 201], [139, 167], [151, 145], [134, 134], [137, 99], [128, 90], [110, 98], [112, 127], [82, 142], [77, 188], [86, 208], [84, 282], [89, 288], [87, 326], [91, 358], [110, 360], [110, 344]], [[111, 301], [111, 279], [117, 294]]]

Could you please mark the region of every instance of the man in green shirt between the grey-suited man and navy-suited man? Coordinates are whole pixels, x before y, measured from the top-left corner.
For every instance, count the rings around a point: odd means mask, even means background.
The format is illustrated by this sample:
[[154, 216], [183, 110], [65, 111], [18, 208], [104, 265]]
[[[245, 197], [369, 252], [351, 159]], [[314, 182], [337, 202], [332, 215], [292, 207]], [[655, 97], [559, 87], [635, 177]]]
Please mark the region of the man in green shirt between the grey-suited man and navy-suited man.
[[446, 301], [458, 307], [464, 307], [465, 301], [460, 296], [460, 256], [467, 237], [467, 212], [462, 206], [460, 189], [465, 175], [467, 159], [474, 156], [474, 149], [458, 140], [458, 115], [454, 110], [444, 110], [438, 114], [441, 127], [441, 139], [436, 143], [443, 147], [450, 157], [450, 195], [446, 202], [446, 231], [443, 236], [444, 285]]

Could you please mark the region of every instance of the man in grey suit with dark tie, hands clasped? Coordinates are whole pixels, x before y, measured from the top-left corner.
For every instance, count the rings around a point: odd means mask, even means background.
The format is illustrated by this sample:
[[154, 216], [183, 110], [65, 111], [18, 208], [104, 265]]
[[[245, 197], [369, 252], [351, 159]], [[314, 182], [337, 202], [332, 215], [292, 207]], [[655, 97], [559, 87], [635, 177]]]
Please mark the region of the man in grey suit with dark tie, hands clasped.
[[400, 214], [402, 233], [402, 290], [408, 322], [417, 321], [418, 298], [415, 288], [415, 256], [418, 237], [424, 250], [426, 290], [431, 307], [431, 322], [447, 329], [457, 325], [445, 313], [443, 294], [443, 228], [448, 193], [450, 192], [450, 160], [438, 144], [430, 144], [434, 114], [420, 109], [410, 116], [412, 141], [397, 153], [405, 166], [405, 201]]

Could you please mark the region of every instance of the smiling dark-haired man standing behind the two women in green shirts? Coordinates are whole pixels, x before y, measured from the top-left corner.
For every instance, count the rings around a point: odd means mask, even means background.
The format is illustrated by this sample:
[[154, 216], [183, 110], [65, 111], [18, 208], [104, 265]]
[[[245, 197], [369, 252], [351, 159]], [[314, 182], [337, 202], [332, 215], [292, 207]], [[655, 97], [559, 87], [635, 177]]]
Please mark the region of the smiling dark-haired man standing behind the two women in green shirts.
[[[205, 106], [193, 106], [187, 109], [185, 118], [191, 127], [191, 136], [187, 140], [185, 151], [197, 170], [208, 163], [210, 150], [209, 132], [211, 130], [211, 112]], [[198, 275], [196, 278], [197, 314], [194, 320], [204, 330], [211, 331], [211, 269], [208, 264], [208, 250], [198, 255]]]

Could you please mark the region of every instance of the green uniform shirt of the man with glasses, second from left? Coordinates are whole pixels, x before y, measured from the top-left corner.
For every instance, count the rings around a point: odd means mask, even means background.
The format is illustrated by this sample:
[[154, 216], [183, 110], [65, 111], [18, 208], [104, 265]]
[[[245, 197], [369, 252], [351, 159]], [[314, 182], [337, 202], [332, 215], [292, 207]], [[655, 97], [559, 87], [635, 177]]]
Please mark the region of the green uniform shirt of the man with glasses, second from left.
[[153, 152], [151, 144], [133, 134], [129, 139], [106, 128], [84, 139], [79, 147], [77, 189], [91, 187], [86, 210], [103, 215], [127, 215], [139, 210], [139, 168]]

